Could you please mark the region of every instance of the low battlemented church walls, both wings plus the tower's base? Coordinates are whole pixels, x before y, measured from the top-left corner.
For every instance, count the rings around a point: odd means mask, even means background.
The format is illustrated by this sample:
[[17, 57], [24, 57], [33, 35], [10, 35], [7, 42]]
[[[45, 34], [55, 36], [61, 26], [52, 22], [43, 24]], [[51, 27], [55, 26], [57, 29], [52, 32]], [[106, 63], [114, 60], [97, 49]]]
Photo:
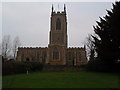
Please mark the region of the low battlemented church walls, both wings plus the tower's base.
[[[58, 49], [59, 58], [53, 59], [54, 50]], [[38, 61], [50, 65], [80, 66], [87, 63], [85, 48], [65, 48], [59, 45], [41, 47], [21, 47], [18, 49], [17, 61]]]

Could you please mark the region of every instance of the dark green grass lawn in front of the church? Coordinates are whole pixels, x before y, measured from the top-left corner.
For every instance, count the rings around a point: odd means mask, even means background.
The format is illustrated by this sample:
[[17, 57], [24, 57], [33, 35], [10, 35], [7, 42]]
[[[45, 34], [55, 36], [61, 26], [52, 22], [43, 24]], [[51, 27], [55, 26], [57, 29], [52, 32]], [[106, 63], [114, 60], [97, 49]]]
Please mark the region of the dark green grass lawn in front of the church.
[[119, 76], [95, 72], [35, 72], [3, 76], [3, 88], [120, 88]]

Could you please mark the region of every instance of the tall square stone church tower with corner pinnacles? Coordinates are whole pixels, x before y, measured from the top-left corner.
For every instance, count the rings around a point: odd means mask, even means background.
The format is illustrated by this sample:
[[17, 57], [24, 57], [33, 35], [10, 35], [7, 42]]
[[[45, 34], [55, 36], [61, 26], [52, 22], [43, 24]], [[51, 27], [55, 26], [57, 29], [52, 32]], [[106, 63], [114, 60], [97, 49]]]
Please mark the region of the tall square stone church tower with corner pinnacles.
[[67, 48], [67, 17], [65, 5], [64, 11], [62, 12], [55, 12], [52, 6], [50, 25], [48, 62], [55, 65], [64, 65], [66, 64], [65, 52]]

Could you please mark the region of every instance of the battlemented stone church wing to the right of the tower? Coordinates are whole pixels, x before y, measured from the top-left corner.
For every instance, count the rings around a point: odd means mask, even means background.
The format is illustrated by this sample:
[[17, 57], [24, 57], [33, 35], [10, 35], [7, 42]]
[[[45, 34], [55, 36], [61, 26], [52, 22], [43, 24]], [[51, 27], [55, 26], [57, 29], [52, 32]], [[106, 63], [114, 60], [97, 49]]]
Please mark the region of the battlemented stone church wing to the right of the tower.
[[85, 48], [68, 48], [66, 51], [66, 64], [73, 66], [80, 66], [86, 64], [86, 51]]

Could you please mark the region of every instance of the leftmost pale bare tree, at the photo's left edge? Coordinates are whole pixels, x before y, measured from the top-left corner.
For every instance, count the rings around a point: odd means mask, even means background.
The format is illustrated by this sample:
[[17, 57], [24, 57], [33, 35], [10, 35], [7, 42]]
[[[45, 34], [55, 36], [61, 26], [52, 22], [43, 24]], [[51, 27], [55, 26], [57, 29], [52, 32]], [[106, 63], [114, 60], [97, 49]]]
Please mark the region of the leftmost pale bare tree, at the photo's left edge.
[[2, 39], [2, 56], [8, 58], [11, 52], [10, 35], [5, 35]]

